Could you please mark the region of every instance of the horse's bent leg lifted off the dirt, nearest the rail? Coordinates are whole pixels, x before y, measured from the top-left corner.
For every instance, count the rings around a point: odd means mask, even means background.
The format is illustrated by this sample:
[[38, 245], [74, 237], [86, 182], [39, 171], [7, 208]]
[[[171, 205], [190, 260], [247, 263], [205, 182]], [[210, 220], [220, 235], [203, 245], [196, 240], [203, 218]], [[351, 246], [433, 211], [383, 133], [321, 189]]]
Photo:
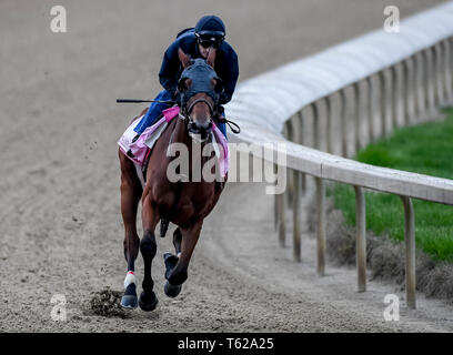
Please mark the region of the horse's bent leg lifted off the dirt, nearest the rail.
[[[164, 291], [169, 297], [175, 297], [181, 292], [182, 283], [188, 280], [188, 268], [193, 250], [200, 237], [203, 221], [199, 221], [190, 227], [181, 229], [181, 254], [174, 267], [167, 265]], [[178, 252], [178, 251], [177, 251]]]

